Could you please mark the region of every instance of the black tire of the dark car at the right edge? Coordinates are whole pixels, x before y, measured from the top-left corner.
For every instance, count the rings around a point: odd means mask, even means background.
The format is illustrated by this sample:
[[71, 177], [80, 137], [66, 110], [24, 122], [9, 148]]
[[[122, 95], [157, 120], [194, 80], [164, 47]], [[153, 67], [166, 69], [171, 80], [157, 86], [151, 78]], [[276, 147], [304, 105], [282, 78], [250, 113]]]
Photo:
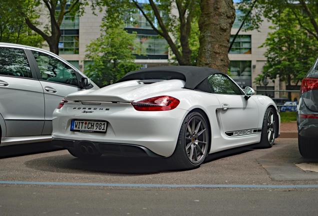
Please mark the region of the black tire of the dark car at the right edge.
[[305, 158], [318, 158], [318, 143], [316, 140], [298, 134], [298, 148], [301, 156]]

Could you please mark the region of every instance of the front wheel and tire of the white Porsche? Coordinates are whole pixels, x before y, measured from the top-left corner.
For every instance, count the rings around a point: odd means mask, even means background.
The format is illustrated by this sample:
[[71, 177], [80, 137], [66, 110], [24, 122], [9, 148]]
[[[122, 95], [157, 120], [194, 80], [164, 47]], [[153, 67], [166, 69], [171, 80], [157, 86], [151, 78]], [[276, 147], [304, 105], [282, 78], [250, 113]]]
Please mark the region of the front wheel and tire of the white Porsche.
[[276, 110], [273, 107], [268, 107], [263, 118], [259, 147], [270, 148], [274, 144], [277, 132], [277, 120]]

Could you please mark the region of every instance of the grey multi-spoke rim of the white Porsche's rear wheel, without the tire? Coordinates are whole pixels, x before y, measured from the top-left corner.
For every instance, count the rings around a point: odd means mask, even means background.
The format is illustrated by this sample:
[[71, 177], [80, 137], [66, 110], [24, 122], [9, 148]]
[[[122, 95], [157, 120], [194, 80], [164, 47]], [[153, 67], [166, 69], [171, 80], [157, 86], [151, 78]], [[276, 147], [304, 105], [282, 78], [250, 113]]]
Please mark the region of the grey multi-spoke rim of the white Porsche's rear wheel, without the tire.
[[197, 164], [204, 160], [207, 150], [208, 130], [201, 116], [193, 116], [186, 125], [185, 151], [191, 163]]

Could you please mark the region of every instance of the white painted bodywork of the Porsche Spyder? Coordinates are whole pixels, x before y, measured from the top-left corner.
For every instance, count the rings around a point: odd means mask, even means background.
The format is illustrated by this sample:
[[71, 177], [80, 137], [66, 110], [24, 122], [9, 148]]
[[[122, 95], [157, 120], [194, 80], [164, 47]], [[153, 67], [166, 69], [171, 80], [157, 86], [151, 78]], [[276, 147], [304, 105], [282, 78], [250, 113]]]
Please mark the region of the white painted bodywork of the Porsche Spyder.
[[[275, 103], [267, 96], [252, 95], [246, 100], [244, 95], [213, 94], [185, 89], [182, 88], [183, 86], [184, 81], [178, 79], [151, 84], [129, 80], [95, 91], [72, 93], [66, 97], [68, 102], [53, 112], [52, 137], [53, 139], [136, 144], [168, 157], [175, 149], [183, 119], [191, 110], [198, 108], [204, 111], [210, 124], [209, 153], [212, 153], [259, 142], [260, 133], [231, 137], [225, 132], [261, 128], [267, 107], [272, 105], [277, 110]], [[180, 100], [180, 103], [176, 108], [168, 111], [137, 111], [130, 103], [159, 95], [175, 97]], [[257, 97], [262, 97], [261, 101], [264, 103], [260, 103]], [[97, 101], [100, 105], [84, 105], [80, 101]], [[222, 109], [224, 108], [222, 103], [228, 104], [226, 110]], [[83, 107], [86, 109], [90, 107], [93, 112], [83, 113]], [[103, 109], [100, 110], [100, 108]], [[70, 131], [72, 119], [106, 120], [107, 132]]]

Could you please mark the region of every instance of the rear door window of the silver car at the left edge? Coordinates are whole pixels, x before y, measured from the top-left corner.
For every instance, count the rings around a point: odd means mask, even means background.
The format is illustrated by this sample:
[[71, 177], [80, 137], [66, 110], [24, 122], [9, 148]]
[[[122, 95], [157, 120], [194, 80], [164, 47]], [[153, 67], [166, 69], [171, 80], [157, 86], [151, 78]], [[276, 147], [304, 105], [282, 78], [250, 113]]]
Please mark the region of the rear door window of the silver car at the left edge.
[[23, 49], [0, 47], [0, 75], [32, 77]]

